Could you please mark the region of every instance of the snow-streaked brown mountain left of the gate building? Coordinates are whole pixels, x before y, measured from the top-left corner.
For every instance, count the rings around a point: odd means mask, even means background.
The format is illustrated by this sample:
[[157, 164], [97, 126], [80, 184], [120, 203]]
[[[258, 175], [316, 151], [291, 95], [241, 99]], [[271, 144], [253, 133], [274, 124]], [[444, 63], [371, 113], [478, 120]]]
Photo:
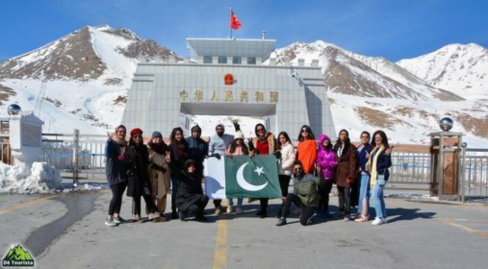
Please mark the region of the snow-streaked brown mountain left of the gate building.
[[178, 59], [129, 29], [83, 27], [0, 63], [0, 112], [17, 103], [45, 132], [103, 133], [120, 123], [137, 62]]

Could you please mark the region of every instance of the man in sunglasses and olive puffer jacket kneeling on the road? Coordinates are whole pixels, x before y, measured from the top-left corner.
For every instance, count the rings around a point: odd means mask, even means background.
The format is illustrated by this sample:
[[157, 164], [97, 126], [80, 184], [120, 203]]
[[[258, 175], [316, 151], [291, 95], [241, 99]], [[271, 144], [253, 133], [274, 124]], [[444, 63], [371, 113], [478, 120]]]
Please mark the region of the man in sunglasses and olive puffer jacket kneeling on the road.
[[[320, 166], [317, 166], [317, 172], [322, 175]], [[282, 226], [286, 224], [286, 217], [290, 211], [291, 203], [300, 208], [301, 225], [309, 225], [319, 204], [317, 186], [320, 183], [320, 177], [305, 174], [303, 165], [297, 160], [293, 163], [293, 175], [291, 178], [293, 179], [294, 190], [293, 193], [288, 193], [286, 196], [282, 217], [276, 225]]]

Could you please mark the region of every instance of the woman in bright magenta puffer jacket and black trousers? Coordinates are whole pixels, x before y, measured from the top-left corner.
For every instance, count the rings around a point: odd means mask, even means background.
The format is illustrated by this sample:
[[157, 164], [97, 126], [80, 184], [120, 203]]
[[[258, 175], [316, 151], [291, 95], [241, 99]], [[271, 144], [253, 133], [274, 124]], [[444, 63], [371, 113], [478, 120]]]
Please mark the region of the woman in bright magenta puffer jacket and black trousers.
[[319, 137], [319, 152], [317, 154], [317, 166], [321, 168], [321, 175], [323, 180], [320, 181], [318, 186], [320, 200], [319, 207], [317, 208], [317, 215], [322, 218], [330, 217], [329, 208], [329, 193], [332, 189], [335, 177], [335, 167], [337, 166], [337, 160], [335, 159], [335, 152], [332, 149], [332, 143], [327, 135], [320, 135]]

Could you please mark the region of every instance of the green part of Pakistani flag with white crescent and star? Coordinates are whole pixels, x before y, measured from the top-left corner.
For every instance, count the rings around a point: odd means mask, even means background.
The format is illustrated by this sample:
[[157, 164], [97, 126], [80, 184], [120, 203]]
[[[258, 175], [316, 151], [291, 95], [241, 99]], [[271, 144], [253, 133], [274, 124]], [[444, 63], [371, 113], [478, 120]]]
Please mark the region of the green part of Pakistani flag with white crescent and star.
[[228, 198], [281, 197], [275, 155], [225, 157], [225, 195]]

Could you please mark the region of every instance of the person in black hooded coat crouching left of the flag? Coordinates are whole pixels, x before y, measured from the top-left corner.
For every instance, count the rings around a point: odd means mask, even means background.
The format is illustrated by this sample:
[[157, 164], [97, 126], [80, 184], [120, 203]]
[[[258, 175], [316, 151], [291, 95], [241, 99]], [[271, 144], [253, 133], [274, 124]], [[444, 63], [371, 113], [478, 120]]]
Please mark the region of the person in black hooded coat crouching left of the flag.
[[195, 220], [206, 220], [203, 210], [207, 206], [208, 196], [203, 194], [196, 165], [194, 160], [188, 159], [185, 162], [185, 170], [179, 171], [177, 177], [179, 182], [176, 207], [181, 221], [186, 221], [189, 216], [195, 216]]

